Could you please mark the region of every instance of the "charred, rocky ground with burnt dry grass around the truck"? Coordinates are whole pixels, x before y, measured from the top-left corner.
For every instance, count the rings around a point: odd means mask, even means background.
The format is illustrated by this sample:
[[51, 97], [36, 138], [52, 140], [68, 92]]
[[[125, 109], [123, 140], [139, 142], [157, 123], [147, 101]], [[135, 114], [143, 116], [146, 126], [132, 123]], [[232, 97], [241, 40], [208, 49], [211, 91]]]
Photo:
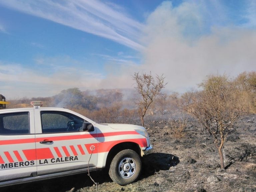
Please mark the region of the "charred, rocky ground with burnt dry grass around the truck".
[[[238, 120], [224, 148], [225, 170], [220, 169], [212, 136], [195, 120], [186, 118], [185, 135], [175, 138], [173, 123], [147, 120], [154, 153], [143, 158], [140, 179], [127, 186], [111, 181], [106, 171], [92, 172], [99, 192], [256, 192], [256, 115]], [[167, 118], [166, 118], [167, 119]], [[183, 121], [182, 121], [183, 122]], [[139, 122], [136, 122], [139, 124]], [[87, 173], [0, 188], [9, 191], [96, 192]]]

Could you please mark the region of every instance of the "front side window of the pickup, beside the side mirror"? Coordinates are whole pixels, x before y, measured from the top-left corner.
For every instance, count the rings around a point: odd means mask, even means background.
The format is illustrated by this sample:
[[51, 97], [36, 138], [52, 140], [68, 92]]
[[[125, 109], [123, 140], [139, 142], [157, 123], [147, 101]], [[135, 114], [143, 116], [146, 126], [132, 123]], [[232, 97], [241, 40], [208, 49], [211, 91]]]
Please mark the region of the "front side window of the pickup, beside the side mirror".
[[62, 111], [41, 111], [42, 133], [79, 131], [84, 120]]

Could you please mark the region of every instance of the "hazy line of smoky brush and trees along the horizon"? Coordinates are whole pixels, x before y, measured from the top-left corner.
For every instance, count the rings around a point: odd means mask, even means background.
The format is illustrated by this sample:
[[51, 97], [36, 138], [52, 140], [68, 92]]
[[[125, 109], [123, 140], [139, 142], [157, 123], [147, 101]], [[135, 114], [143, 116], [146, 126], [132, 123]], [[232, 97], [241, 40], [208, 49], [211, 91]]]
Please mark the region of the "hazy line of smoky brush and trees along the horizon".
[[[223, 83], [222, 90], [235, 89], [243, 98], [244, 112], [256, 113], [256, 72], [243, 72], [236, 78], [228, 78], [226, 75], [208, 75], [199, 84], [199, 89], [189, 90], [183, 94], [177, 92], [165, 92], [166, 85], [163, 75], [154, 78], [151, 73], [134, 73], [135, 89], [99, 89], [81, 91], [79, 88], [62, 90], [59, 94], [51, 97], [33, 97], [9, 100], [7, 108], [31, 107], [30, 101], [43, 101], [44, 107], [64, 107], [79, 111], [91, 117], [93, 120], [116, 122], [117, 117], [123, 117], [124, 121], [147, 115], [163, 116], [172, 114], [173, 111], [183, 109], [182, 101], [200, 98], [202, 90], [209, 92], [213, 89], [210, 83]], [[228, 86], [228, 87], [227, 87]], [[225, 87], [225, 89], [224, 89]], [[228, 91], [229, 93], [233, 92]], [[222, 93], [223, 94], [223, 93]], [[228, 97], [231, 97], [230, 94]], [[241, 101], [240, 101], [241, 102]], [[120, 119], [120, 118], [119, 118]], [[141, 120], [142, 122], [143, 120]], [[142, 122], [143, 125], [143, 122]]]

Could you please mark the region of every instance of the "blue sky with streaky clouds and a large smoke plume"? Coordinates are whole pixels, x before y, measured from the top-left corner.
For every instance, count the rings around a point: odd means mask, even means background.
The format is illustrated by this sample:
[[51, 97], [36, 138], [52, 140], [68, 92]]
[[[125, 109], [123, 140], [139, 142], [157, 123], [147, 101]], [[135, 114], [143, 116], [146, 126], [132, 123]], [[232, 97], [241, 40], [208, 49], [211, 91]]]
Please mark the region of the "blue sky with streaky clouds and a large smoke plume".
[[256, 70], [255, 0], [1, 0], [0, 94], [133, 88], [134, 73], [186, 92]]

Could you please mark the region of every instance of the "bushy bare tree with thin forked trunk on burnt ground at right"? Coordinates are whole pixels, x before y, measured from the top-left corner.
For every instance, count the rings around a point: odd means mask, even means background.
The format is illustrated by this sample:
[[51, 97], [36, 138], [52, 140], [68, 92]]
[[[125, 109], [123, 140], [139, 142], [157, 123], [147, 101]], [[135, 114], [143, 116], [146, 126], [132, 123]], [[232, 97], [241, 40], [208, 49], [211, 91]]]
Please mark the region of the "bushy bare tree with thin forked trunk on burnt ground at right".
[[228, 131], [242, 112], [244, 97], [225, 75], [208, 76], [200, 87], [202, 91], [183, 94], [180, 106], [194, 116], [213, 136], [221, 168], [224, 168], [222, 148]]

